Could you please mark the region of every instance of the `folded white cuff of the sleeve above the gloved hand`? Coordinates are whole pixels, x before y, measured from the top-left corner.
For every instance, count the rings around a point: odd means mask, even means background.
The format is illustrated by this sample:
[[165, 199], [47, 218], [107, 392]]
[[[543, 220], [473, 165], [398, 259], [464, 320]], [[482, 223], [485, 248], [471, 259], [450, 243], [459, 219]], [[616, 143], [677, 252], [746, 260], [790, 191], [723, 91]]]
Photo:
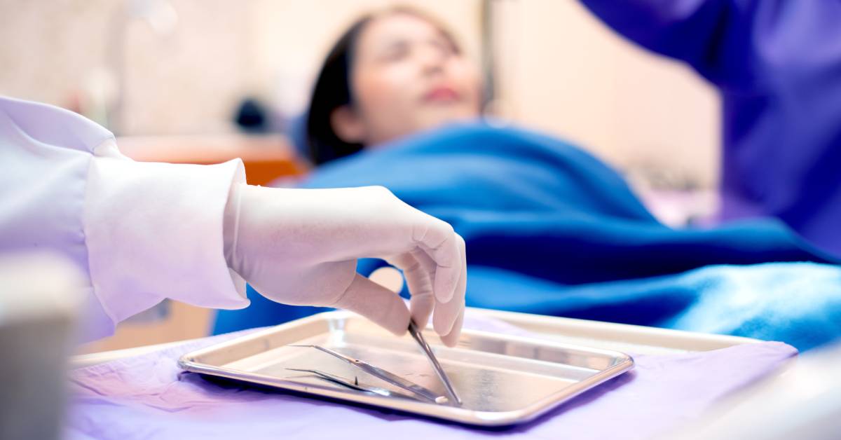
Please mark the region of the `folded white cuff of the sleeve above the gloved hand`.
[[114, 323], [167, 298], [224, 309], [249, 304], [223, 244], [230, 187], [245, 181], [241, 160], [135, 162], [114, 140], [93, 153], [84, 234], [93, 292]]

